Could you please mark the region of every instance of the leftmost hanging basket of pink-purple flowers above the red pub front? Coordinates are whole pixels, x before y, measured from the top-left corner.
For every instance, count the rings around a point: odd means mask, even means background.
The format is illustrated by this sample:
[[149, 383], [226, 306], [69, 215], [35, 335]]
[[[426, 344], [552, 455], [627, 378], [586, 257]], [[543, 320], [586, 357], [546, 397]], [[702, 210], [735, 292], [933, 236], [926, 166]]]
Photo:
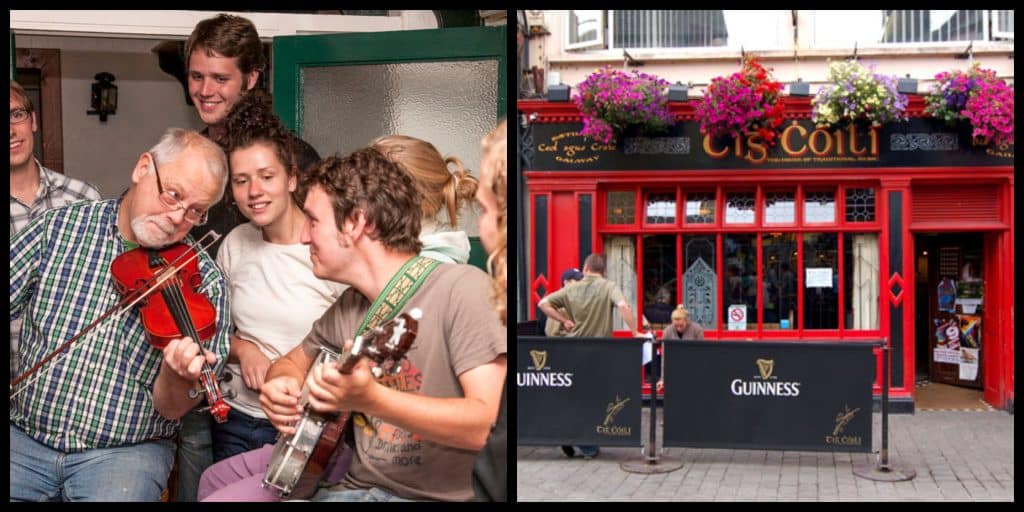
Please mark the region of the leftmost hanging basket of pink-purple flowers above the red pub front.
[[669, 113], [669, 82], [634, 70], [594, 71], [572, 96], [583, 115], [582, 135], [605, 144], [622, 136], [628, 126], [644, 133], [665, 131], [675, 122]]

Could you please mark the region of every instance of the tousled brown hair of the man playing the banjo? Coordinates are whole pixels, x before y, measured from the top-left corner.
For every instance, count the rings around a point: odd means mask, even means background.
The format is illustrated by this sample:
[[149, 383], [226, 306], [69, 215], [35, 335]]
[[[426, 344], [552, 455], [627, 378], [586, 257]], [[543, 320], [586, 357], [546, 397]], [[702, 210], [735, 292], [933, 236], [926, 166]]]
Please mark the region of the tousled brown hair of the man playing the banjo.
[[331, 198], [334, 220], [341, 229], [359, 210], [371, 240], [397, 252], [419, 254], [420, 195], [413, 178], [373, 147], [343, 157], [328, 157], [302, 176], [303, 187], [319, 185]]

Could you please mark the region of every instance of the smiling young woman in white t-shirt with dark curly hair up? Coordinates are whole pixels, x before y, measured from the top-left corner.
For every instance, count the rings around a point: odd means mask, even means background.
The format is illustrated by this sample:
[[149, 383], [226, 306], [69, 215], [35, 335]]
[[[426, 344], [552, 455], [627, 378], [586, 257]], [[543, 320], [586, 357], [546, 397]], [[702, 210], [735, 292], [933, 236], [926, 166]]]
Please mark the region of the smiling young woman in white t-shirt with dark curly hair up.
[[228, 117], [228, 184], [249, 222], [225, 237], [217, 255], [236, 331], [232, 379], [223, 386], [234, 396], [228, 421], [213, 428], [214, 462], [274, 442], [278, 431], [259, 404], [266, 371], [346, 288], [314, 276], [309, 248], [299, 242], [305, 215], [296, 144], [262, 93], [247, 94]]

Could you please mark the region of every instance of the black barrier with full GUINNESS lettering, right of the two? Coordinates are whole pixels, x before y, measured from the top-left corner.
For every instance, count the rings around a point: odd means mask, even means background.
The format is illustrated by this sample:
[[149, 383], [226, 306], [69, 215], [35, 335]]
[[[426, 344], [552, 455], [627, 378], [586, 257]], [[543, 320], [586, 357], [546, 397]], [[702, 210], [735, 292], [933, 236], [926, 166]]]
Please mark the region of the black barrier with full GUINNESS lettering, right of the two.
[[665, 344], [666, 446], [871, 451], [873, 343]]

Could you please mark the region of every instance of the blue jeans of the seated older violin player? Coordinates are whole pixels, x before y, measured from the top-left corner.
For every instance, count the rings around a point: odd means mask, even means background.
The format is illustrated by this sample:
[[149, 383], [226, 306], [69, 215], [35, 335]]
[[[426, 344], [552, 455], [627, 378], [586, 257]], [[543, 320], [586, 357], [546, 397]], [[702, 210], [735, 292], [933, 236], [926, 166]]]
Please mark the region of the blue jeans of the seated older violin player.
[[158, 502], [174, 462], [174, 441], [66, 454], [10, 425], [10, 501]]

